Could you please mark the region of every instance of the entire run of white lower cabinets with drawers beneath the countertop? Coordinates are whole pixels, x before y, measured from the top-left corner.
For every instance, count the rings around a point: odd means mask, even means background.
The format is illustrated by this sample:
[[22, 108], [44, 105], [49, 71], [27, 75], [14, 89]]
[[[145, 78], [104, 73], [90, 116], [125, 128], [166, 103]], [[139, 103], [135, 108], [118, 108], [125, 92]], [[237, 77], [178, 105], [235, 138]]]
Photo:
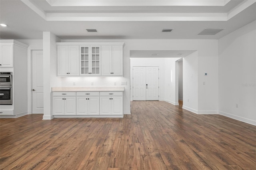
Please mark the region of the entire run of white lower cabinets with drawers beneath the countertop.
[[123, 115], [123, 92], [53, 92], [52, 96], [53, 115], [56, 116]]

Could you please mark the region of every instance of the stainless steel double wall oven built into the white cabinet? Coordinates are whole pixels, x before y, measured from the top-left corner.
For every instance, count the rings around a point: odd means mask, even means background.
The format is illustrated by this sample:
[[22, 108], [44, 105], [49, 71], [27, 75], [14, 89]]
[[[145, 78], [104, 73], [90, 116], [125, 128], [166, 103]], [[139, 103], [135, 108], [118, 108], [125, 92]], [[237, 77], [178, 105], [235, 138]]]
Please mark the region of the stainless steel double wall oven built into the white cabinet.
[[0, 72], [0, 105], [12, 105], [12, 72]]

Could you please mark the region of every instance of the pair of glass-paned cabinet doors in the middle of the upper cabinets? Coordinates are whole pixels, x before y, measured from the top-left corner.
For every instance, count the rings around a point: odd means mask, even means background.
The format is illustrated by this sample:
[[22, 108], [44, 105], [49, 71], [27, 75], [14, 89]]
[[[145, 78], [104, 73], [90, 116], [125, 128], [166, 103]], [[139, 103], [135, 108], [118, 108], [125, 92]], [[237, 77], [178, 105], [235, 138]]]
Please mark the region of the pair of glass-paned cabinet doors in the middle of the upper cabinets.
[[100, 46], [80, 46], [80, 75], [100, 75]]

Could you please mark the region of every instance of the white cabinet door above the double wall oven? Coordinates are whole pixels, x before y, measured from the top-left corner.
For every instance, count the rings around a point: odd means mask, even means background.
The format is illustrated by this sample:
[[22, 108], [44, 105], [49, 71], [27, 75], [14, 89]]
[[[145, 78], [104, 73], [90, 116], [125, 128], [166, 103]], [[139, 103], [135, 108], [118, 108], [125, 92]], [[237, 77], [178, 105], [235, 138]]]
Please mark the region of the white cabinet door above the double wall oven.
[[13, 44], [0, 44], [0, 67], [13, 67]]

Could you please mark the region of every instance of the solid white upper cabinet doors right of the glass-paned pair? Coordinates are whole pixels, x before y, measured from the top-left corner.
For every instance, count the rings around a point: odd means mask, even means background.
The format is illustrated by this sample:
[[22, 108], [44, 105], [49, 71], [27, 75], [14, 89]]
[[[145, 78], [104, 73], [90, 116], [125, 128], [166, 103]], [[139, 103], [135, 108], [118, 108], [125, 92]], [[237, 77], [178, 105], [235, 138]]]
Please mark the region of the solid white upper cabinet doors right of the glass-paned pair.
[[101, 75], [123, 75], [123, 46], [102, 45]]

